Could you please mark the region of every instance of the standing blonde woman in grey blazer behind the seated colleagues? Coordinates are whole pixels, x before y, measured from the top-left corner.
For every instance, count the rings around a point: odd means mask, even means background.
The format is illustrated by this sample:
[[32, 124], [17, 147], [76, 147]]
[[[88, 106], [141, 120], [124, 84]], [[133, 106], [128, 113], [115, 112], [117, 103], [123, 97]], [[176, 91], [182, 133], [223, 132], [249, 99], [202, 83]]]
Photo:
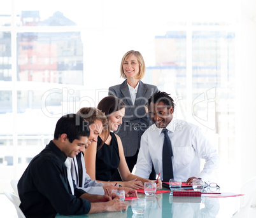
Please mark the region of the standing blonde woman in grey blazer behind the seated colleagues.
[[[122, 58], [120, 65], [120, 76], [125, 81], [109, 88], [108, 95], [114, 95], [122, 99], [127, 106], [123, 123], [115, 132], [122, 140], [124, 155], [130, 172], [136, 165], [140, 147], [141, 135], [150, 126], [150, 117], [146, 103], [153, 93], [158, 92], [157, 86], [148, 85], [141, 81], [145, 76], [146, 67], [143, 57], [139, 51], [128, 51]], [[152, 168], [150, 179], [155, 179]], [[112, 181], [120, 180], [118, 172], [111, 178]]]

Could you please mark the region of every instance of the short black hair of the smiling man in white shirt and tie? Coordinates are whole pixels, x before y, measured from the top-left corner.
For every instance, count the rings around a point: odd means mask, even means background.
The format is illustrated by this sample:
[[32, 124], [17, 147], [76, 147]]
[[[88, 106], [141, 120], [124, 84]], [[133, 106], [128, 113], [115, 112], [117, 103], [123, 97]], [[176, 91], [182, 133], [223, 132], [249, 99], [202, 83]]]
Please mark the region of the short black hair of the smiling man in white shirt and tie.
[[150, 103], [153, 102], [153, 104], [163, 102], [166, 106], [167, 109], [170, 109], [170, 107], [173, 107], [173, 112], [174, 112], [174, 100], [169, 96], [170, 94], [167, 94], [166, 92], [156, 92], [154, 93], [150, 99], [148, 99], [148, 107], [150, 106]]

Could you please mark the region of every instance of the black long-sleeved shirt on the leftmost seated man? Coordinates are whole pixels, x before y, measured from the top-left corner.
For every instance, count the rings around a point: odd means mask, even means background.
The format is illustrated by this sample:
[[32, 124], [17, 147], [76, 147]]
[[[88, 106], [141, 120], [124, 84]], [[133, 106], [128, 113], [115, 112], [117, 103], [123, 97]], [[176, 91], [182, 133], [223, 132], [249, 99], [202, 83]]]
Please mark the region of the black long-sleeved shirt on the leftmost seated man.
[[18, 181], [20, 208], [25, 217], [55, 217], [87, 214], [90, 201], [79, 198], [85, 191], [75, 189], [71, 194], [68, 183], [66, 155], [50, 141], [35, 156]]

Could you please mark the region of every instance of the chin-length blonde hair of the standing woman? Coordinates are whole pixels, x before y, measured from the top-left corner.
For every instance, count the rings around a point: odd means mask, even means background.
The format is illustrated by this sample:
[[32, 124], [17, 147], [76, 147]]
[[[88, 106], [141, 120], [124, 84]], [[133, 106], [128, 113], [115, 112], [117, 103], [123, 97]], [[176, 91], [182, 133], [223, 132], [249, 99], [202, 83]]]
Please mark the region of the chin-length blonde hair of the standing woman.
[[121, 65], [120, 65], [120, 77], [126, 79], [126, 75], [124, 73], [124, 68], [123, 68], [123, 65], [124, 65], [124, 62], [125, 60], [130, 57], [131, 55], [134, 55], [137, 59], [138, 59], [138, 62], [139, 62], [139, 75], [138, 75], [138, 79], [142, 79], [144, 76], [145, 76], [145, 72], [146, 72], [146, 66], [145, 66], [145, 62], [144, 62], [144, 59], [141, 55], [141, 53], [139, 53], [139, 51], [134, 51], [134, 50], [131, 50], [131, 51], [127, 51], [124, 55], [124, 57], [122, 58], [122, 61], [121, 61]]

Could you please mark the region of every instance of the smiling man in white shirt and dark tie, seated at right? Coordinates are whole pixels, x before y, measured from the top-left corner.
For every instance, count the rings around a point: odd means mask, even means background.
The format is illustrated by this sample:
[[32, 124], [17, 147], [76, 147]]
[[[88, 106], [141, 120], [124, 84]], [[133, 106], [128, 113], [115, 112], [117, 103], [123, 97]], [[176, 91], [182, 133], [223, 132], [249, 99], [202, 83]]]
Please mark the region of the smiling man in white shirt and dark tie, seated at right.
[[[208, 183], [211, 174], [218, 168], [220, 158], [217, 151], [206, 140], [198, 126], [173, 118], [174, 105], [173, 99], [160, 91], [148, 100], [149, 114], [154, 124], [141, 137], [135, 175], [148, 179], [153, 164], [155, 172], [161, 172], [160, 179], [163, 179], [162, 129], [166, 128], [173, 151], [170, 158], [174, 179], [192, 184], [193, 179], [202, 178]], [[205, 160], [203, 170], [200, 169], [201, 158]]]

